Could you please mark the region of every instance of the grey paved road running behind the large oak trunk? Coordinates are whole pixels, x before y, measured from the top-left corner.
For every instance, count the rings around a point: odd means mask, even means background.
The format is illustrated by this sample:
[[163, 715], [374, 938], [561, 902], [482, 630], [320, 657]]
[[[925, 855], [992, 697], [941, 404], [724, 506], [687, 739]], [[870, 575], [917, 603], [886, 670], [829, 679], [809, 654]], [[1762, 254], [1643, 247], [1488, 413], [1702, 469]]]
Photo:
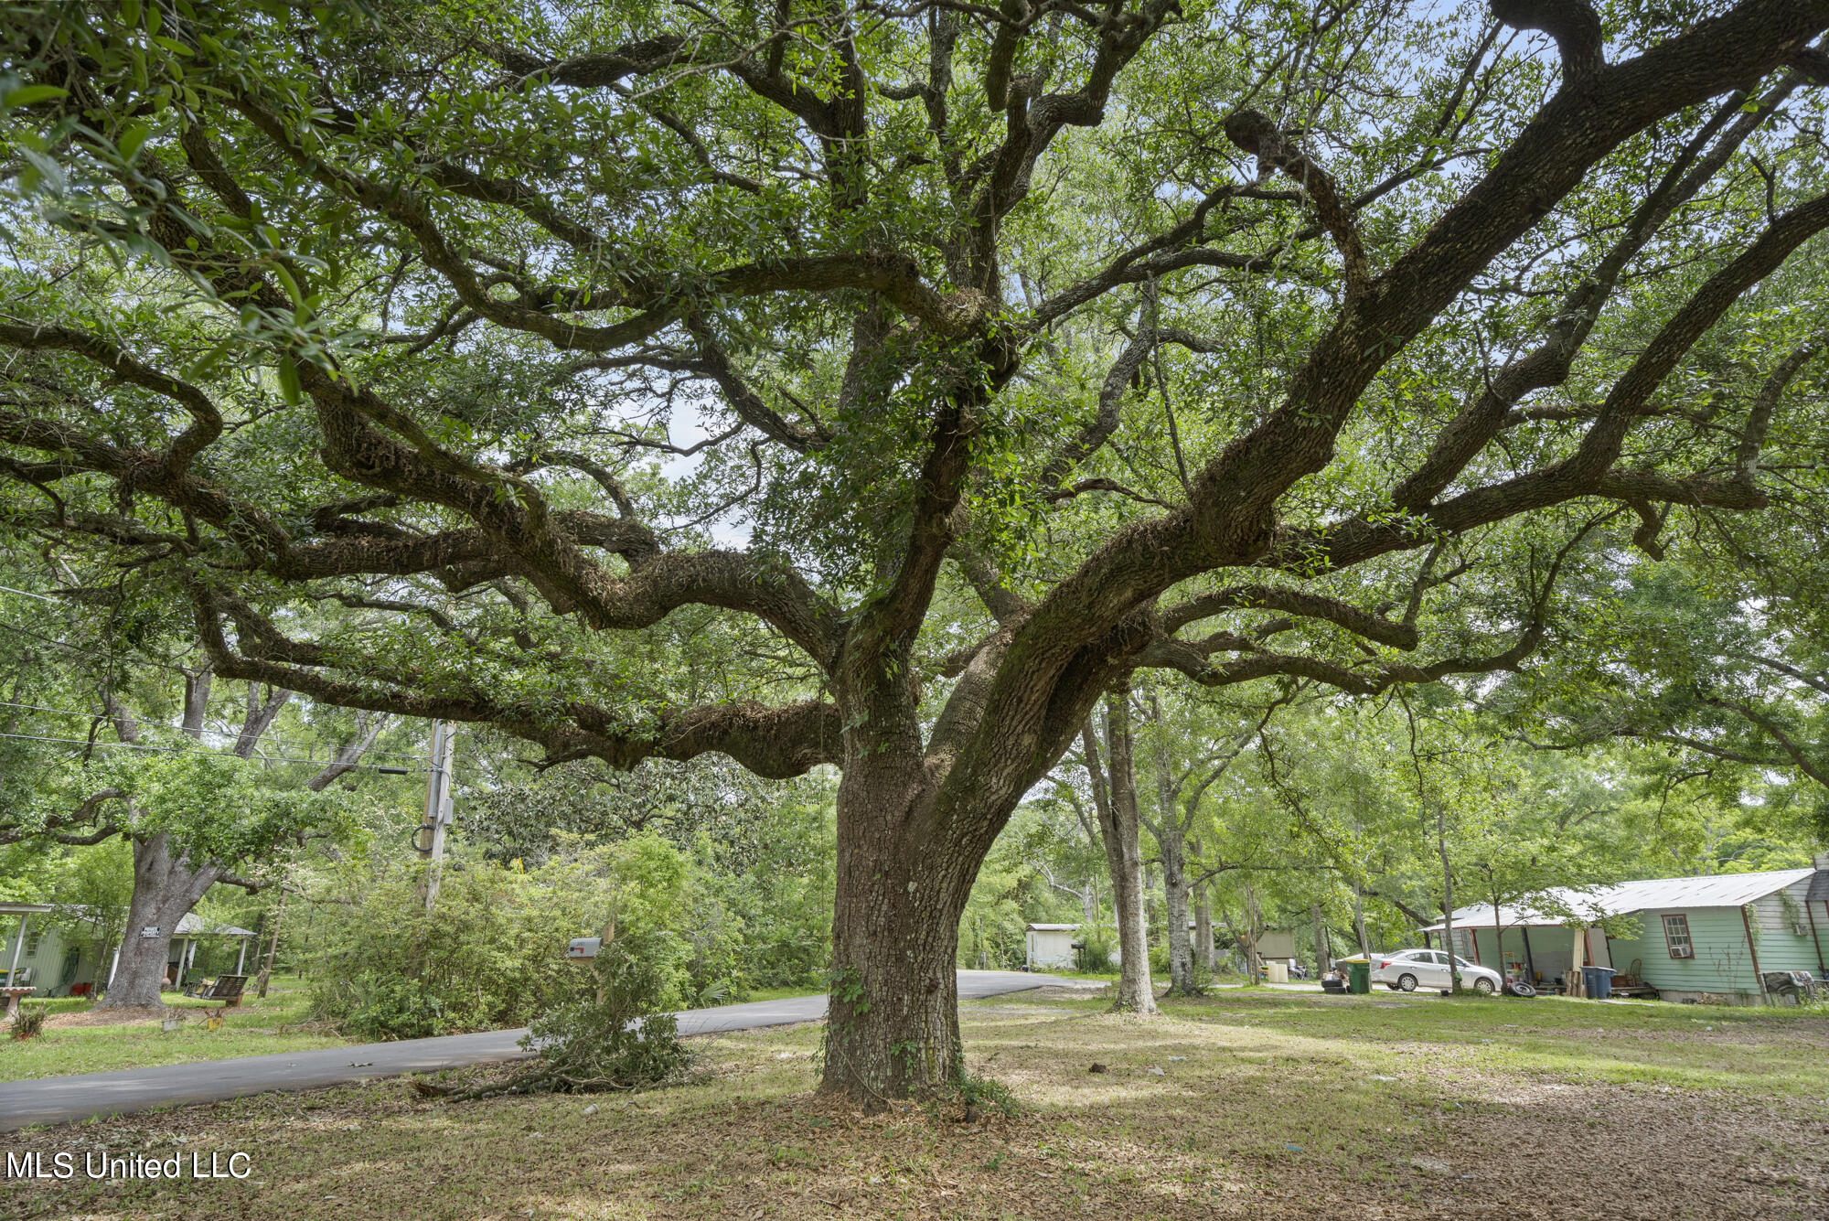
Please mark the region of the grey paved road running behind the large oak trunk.
[[[960, 1000], [977, 1000], [1050, 983], [1075, 985], [1074, 980], [1021, 971], [960, 971], [958, 996]], [[680, 1035], [715, 1035], [792, 1022], [818, 1022], [823, 1016], [825, 996], [794, 996], [717, 1009], [690, 1009], [679, 1014], [679, 1022]], [[269, 1089], [322, 1089], [371, 1077], [435, 1073], [470, 1064], [523, 1060], [530, 1053], [516, 1044], [525, 1033], [519, 1029], [446, 1035], [443, 1038], [355, 1044], [240, 1060], [163, 1064], [121, 1073], [0, 1082], [0, 1131], [29, 1124], [64, 1124], [91, 1115], [123, 1115], [155, 1106], [219, 1102]], [[0, 1071], [5, 1071], [4, 1058], [0, 1058]]]

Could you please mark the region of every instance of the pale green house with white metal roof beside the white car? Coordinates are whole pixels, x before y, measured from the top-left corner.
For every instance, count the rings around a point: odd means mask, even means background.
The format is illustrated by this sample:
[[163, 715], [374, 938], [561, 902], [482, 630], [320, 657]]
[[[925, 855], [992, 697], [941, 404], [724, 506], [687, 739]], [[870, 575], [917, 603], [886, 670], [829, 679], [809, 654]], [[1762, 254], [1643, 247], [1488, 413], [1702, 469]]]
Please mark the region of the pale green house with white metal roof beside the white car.
[[[1619, 919], [1635, 936], [1610, 936]], [[1449, 930], [1430, 925], [1425, 938]], [[1813, 868], [1710, 877], [1657, 877], [1593, 890], [1555, 890], [1536, 903], [1476, 903], [1454, 912], [1461, 958], [1538, 987], [1577, 958], [1611, 967], [1615, 991], [1674, 1002], [1792, 1000], [1783, 972], [1829, 980], [1829, 855]]]

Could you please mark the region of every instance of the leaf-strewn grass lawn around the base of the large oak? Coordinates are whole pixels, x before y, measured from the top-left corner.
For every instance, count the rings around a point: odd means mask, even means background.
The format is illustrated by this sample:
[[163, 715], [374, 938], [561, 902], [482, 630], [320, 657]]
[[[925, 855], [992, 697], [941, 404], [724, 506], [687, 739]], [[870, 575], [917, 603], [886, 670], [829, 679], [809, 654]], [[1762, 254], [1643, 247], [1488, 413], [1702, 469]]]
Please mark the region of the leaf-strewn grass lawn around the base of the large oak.
[[[1829, 1199], [1829, 1018], [1225, 991], [1152, 1022], [1026, 993], [962, 1007], [960, 1122], [812, 1095], [816, 1025], [701, 1044], [636, 1097], [402, 1082], [15, 1133], [9, 1152], [249, 1152], [245, 1183], [35, 1184], [16, 1217], [1694, 1217]], [[1090, 1073], [1103, 1064], [1103, 1073]]]

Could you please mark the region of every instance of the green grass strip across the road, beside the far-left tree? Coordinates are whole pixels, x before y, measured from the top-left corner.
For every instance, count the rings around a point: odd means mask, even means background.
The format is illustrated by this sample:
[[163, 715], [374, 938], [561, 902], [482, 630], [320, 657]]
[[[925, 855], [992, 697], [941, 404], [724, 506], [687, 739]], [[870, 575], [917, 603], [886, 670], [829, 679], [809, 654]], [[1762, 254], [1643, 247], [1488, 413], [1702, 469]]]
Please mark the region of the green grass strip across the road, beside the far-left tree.
[[[42, 1003], [51, 1016], [38, 1038], [5, 1038], [5, 1027], [0, 1027], [0, 1080], [229, 1060], [274, 1051], [338, 1047], [349, 1042], [322, 1027], [305, 1025], [305, 985], [289, 976], [276, 976], [267, 987], [265, 998], [254, 996], [251, 982], [245, 1000], [234, 1009], [166, 994], [165, 1003], [183, 1009], [187, 1014], [185, 1024], [170, 1035], [161, 1029], [159, 1022], [66, 1025], [64, 1022], [73, 1020], [66, 1014], [88, 1011], [90, 1002], [84, 1000], [26, 1003]], [[214, 1031], [207, 1029], [207, 1018], [212, 1013], [223, 1016], [221, 1027]]]

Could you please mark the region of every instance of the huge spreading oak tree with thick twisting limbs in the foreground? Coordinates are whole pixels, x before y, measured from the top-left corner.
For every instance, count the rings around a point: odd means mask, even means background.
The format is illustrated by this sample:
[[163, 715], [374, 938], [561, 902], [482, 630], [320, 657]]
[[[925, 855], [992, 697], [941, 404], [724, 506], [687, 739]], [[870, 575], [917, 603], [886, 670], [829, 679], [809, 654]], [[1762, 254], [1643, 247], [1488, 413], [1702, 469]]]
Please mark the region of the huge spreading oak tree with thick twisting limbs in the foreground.
[[1138, 669], [1514, 667], [1617, 525], [1767, 504], [1825, 27], [9, 5], [9, 523], [227, 678], [840, 768], [825, 1080], [924, 1091], [984, 854]]

